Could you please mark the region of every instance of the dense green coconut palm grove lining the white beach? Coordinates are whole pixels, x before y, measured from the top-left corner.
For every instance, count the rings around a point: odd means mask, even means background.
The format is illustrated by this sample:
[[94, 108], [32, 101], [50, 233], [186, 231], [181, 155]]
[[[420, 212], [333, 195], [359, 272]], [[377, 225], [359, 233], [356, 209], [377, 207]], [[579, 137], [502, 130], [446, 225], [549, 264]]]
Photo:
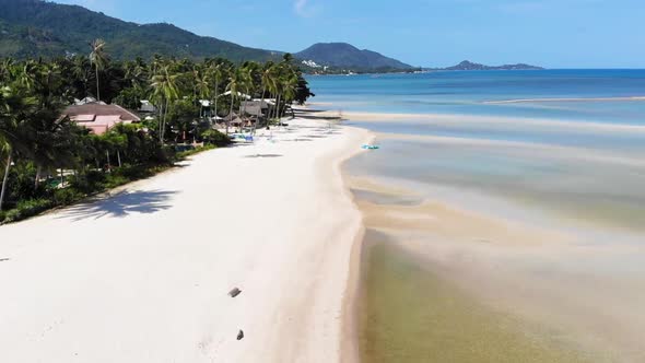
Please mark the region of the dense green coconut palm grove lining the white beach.
[[[289, 54], [265, 63], [162, 56], [113, 61], [106, 49], [96, 39], [87, 55], [1, 60], [0, 224], [226, 145], [232, 121], [253, 134], [257, 127], [279, 124], [291, 104], [313, 95]], [[64, 114], [80, 99], [132, 114], [142, 102], [149, 108], [137, 122], [93, 132]], [[249, 115], [249, 99], [267, 105], [266, 110]]]

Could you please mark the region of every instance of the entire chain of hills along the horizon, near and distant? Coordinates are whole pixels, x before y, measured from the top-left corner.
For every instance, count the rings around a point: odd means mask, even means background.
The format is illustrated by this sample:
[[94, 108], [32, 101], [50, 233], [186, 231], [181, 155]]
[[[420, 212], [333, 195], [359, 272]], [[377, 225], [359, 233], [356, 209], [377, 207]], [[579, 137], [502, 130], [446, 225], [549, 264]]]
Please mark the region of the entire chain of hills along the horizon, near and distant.
[[[169, 23], [137, 24], [81, 5], [43, 0], [0, 0], [0, 57], [38, 58], [89, 54], [102, 38], [114, 59], [166, 57], [232, 61], [277, 60], [283, 51], [245, 47], [212, 36], [200, 36]], [[295, 52], [310, 73], [413, 72], [419, 70], [542, 69], [525, 63], [497, 67], [462, 61], [447, 68], [413, 68], [377, 51], [348, 43], [316, 43]]]

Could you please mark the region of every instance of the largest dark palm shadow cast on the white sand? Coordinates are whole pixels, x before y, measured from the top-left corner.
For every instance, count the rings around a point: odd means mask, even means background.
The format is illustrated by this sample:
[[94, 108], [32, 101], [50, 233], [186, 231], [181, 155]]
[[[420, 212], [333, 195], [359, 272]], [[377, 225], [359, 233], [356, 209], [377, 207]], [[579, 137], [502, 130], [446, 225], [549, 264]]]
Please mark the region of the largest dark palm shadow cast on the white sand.
[[104, 216], [125, 218], [129, 214], [152, 214], [172, 206], [167, 203], [176, 191], [165, 190], [124, 190], [118, 194], [72, 206], [61, 212], [59, 219], [71, 219], [74, 222]]

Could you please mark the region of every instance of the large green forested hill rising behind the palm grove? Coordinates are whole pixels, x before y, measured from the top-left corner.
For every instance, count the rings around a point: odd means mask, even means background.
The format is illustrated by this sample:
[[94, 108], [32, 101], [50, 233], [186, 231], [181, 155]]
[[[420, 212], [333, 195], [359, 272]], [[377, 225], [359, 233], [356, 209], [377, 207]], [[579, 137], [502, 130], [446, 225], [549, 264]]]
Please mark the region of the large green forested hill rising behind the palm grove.
[[96, 38], [107, 42], [107, 51], [116, 59], [159, 54], [265, 61], [282, 55], [198, 36], [171, 24], [140, 25], [82, 7], [40, 0], [0, 0], [0, 57], [15, 58], [87, 54], [89, 43]]

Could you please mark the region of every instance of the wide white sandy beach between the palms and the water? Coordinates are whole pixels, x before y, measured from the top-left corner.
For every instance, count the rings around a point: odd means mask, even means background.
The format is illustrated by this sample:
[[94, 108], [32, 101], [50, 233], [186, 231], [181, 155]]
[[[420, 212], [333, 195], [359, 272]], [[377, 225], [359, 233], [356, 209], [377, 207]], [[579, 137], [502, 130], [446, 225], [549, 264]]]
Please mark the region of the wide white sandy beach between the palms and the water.
[[339, 165], [368, 133], [289, 122], [274, 143], [0, 226], [0, 360], [340, 361], [362, 223]]

